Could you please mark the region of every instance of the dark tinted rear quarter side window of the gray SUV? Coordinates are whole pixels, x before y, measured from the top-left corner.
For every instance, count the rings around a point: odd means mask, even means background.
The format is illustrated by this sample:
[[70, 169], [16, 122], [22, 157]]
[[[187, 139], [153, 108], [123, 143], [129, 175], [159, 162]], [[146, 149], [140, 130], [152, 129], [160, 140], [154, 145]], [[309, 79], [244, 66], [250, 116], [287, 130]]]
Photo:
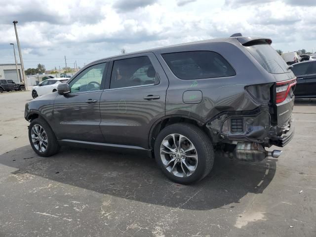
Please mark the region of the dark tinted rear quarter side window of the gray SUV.
[[218, 53], [189, 51], [162, 54], [163, 59], [180, 79], [204, 79], [235, 76], [232, 66]]

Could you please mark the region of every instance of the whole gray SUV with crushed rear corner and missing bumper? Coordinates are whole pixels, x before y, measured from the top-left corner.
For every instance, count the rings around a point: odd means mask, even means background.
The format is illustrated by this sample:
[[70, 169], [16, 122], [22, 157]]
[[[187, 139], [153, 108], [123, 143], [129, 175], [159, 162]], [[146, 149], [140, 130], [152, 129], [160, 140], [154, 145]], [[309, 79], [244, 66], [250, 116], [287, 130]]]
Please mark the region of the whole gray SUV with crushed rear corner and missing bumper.
[[270, 39], [230, 37], [105, 58], [25, 106], [43, 157], [60, 146], [146, 152], [172, 181], [212, 169], [214, 150], [277, 158], [293, 137], [296, 78]]

